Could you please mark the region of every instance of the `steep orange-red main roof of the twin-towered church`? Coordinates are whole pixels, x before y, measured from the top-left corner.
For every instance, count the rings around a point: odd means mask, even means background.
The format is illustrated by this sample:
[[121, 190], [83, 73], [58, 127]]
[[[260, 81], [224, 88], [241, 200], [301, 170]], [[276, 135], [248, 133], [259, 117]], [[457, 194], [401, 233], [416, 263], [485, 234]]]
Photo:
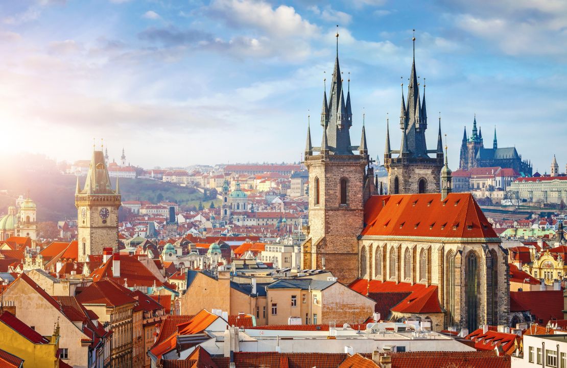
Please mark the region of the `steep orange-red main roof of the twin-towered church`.
[[470, 193], [374, 195], [364, 222], [363, 236], [498, 238]]

